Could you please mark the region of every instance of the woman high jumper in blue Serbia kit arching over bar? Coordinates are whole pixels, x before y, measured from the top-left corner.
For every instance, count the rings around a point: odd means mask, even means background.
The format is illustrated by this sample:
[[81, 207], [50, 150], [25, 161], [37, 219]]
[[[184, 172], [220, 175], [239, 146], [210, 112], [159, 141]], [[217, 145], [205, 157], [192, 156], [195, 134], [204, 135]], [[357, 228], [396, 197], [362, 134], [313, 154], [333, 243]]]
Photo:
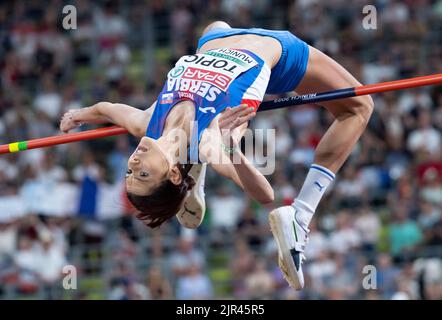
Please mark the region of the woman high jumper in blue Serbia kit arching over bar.
[[[217, 21], [205, 28], [197, 54], [181, 57], [169, 72], [151, 108], [141, 111], [100, 102], [66, 113], [60, 128], [68, 132], [81, 123], [112, 122], [143, 137], [129, 158], [126, 179], [128, 198], [139, 210], [137, 217], [156, 227], [177, 215], [184, 226], [195, 228], [205, 211], [205, 166], [193, 166], [193, 178], [189, 176], [190, 166], [177, 160], [183, 146], [186, 153], [189, 146], [196, 146], [189, 148], [191, 158], [199, 150], [199, 160], [251, 197], [261, 203], [272, 202], [271, 186], [236, 146], [264, 93], [296, 90], [306, 94], [359, 85], [337, 62], [288, 31], [235, 29]], [[317, 146], [314, 164], [293, 204], [269, 215], [279, 265], [288, 283], [298, 290], [304, 286], [302, 262], [310, 220], [373, 110], [370, 96], [322, 105], [335, 121]], [[220, 129], [227, 129], [227, 133]], [[177, 130], [184, 130], [189, 138], [180, 142], [171, 139]], [[227, 164], [219, 164], [213, 156], [216, 151], [221, 151]], [[233, 164], [235, 156], [240, 161]], [[192, 189], [195, 181], [197, 186]]]

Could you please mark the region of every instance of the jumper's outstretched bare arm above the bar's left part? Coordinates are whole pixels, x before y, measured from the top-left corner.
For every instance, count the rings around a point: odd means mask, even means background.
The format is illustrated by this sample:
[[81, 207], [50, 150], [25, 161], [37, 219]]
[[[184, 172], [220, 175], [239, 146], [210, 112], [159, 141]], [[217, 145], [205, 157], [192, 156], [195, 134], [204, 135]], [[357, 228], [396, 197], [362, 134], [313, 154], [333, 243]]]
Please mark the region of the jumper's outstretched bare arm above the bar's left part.
[[60, 130], [68, 132], [82, 123], [113, 123], [127, 129], [136, 137], [145, 136], [156, 102], [147, 110], [139, 110], [122, 103], [99, 102], [93, 106], [69, 110], [63, 115]]

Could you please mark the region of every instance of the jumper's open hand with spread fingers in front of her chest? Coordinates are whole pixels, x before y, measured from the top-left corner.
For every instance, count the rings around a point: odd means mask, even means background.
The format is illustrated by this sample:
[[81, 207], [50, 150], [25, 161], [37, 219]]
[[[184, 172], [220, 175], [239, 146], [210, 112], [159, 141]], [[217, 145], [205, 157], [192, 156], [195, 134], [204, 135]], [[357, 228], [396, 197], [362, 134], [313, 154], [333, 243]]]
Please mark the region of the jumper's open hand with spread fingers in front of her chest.
[[239, 127], [256, 115], [255, 109], [247, 104], [233, 108], [226, 108], [218, 120], [222, 142], [227, 147], [236, 148], [239, 143], [239, 134], [235, 134]]

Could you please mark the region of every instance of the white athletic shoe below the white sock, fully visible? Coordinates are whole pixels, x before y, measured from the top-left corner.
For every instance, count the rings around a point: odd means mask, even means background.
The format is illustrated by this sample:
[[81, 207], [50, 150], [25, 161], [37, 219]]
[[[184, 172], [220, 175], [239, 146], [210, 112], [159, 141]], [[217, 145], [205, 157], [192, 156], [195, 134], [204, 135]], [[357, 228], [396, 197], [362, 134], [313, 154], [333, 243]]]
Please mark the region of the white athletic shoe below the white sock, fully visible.
[[304, 288], [302, 263], [305, 260], [304, 249], [308, 242], [308, 229], [298, 222], [292, 206], [280, 207], [269, 215], [270, 229], [279, 251], [278, 264], [284, 278], [296, 290]]

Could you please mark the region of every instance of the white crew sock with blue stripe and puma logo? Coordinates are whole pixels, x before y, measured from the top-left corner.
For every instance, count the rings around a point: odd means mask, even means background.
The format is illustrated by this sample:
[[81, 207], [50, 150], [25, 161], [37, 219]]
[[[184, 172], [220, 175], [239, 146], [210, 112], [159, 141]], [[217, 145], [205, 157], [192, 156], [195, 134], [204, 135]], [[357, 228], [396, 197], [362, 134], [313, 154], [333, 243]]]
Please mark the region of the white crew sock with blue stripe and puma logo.
[[319, 201], [334, 178], [335, 174], [329, 169], [317, 164], [310, 166], [301, 191], [292, 203], [295, 208], [302, 209], [298, 211], [297, 218], [304, 227], [310, 224]]

